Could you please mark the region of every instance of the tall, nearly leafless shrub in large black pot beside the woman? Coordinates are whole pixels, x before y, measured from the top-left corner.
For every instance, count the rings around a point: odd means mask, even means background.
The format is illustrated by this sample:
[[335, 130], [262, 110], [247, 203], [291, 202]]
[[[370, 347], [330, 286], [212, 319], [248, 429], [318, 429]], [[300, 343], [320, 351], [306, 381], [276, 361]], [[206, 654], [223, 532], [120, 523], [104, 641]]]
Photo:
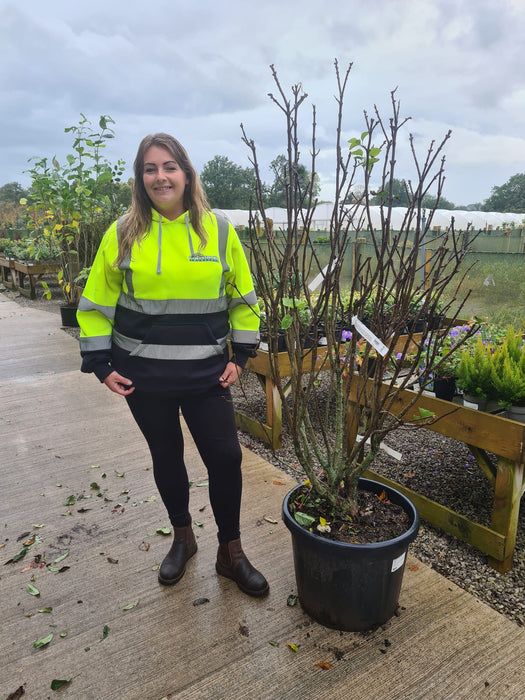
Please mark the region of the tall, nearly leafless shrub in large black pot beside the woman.
[[[396, 397], [422, 366], [430, 374], [428, 365], [456, 325], [454, 319], [464, 302], [454, 301], [452, 295], [451, 301], [442, 304], [441, 312], [449, 320], [442, 330], [428, 329], [430, 349], [419, 343], [414, 351], [412, 339], [406, 335], [408, 310], [422, 298], [420, 313], [426, 317], [436, 313], [448, 287], [454, 284], [456, 291], [458, 268], [467, 250], [463, 239], [455, 235], [452, 219], [451, 226], [436, 236], [423, 278], [420, 247], [434, 210], [424, 212], [422, 199], [433, 186], [437, 190], [436, 206], [439, 202], [443, 184], [441, 151], [448, 135], [437, 148], [432, 144], [422, 160], [410, 137], [415, 180], [409, 184], [409, 206], [401, 230], [391, 230], [398, 134], [406, 120], [400, 117], [392, 93], [389, 122], [385, 123], [378, 112], [374, 116], [365, 113], [363, 132], [345, 141], [343, 103], [350, 69], [341, 74], [335, 63], [335, 194], [327, 232], [329, 262], [324, 269], [317, 263], [308, 235], [317, 204], [313, 195], [318, 153], [315, 108], [308, 149], [309, 185], [297, 177], [298, 125], [301, 105], [307, 97], [302, 86], [293, 86], [288, 96], [272, 67], [277, 95], [270, 98], [284, 115], [283, 150], [288, 154], [283, 170], [287, 222], [280, 235], [267, 227], [258, 231], [258, 222], [267, 219], [265, 187], [255, 142], [241, 128], [255, 172], [256, 211], [250, 216], [249, 244], [252, 272], [268, 331], [277, 335], [281, 329], [286, 336], [286, 364], [291, 372], [288, 382], [282, 381], [279, 354], [271, 346], [268, 363], [281, 395], [297, 462], [306, 477], [283, 503], [283, 519], [292, 533], [298, 596], [306, 612], [322, 624], [358, 630], [381, 624], [394, 614], [407, 548], [419, 523], [415, 508], [404, 496], [362, 477], [391, 430], [406, 424], [417, 428], [433, 420], [414, 409], [424, 386], [413, 392], [413, 399], [403, 409], [396, 408]], [[380, 230], [374, 230], [370, 206], [378, 192], [382, 195], [383, 223]], [[343, 259], [352, 254], [352, 247], [366, 228], [373, 254], [357, 257], [351, 284], [343, 290]], [[317, 286], [313, 284], [315, 278]], [[305, 347], [300, 314], [304, 304], [308, 306], [312, 331], [310, 348]], [[367, 326], [362, 324], [365, 305]], [[475, 330], [473, 325], [461, 342]], [[366, 340], [361, 351], [360, 337]], [[369, 377], [372, 356], [375, 362]], [[288, 387], [291, 395], [287, 400]], [[359, 441], [355, 439], [358, 430]], [[383, 515], [394, 527], [389, 524], [383, 529]]]

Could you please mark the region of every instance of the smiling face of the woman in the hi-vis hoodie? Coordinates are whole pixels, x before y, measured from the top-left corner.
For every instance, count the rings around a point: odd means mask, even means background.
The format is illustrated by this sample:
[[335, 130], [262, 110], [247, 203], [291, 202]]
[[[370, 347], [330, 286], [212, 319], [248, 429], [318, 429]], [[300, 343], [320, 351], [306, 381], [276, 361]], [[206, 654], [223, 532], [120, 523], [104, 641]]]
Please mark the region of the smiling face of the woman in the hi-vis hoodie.
[[184, 213], [184, 189], [188, 178], [166, 148], [148, 148], [144, 154], [142, 180], [153, 207], [162, 216], [173, 220]]

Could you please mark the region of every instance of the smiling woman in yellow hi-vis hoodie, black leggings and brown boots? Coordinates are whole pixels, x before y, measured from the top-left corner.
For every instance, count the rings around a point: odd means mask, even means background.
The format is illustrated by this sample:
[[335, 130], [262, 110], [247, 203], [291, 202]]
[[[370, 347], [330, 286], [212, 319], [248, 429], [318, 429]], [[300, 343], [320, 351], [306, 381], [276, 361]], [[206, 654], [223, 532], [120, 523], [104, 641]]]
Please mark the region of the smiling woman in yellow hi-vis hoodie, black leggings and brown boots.
[[176, 139], [146, 136], [134, 173], [131, 208], [106, 232], [79, 303], [82, 371], [126, 398], [147, 440], [174, 530], [160, 583], [177, 583], [197, 550], [180, 409], [209, 474], [216, 570], [261, 596], [268, 583], [240, 541], [241, 449], [229, 389], [259, 339], [248, 263]]

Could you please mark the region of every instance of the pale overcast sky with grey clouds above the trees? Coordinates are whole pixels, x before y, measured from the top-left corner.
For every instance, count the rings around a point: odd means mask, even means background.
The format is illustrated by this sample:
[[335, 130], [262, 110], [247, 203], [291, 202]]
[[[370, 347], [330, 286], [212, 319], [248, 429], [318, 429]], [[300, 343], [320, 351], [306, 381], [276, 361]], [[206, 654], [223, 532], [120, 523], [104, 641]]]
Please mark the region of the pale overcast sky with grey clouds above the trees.
[[[525, 172], [524, 47], [523, 0], [0, 0], [0, 185], [27, 186], [31, 156], [63, 160], [80, 112], [115, 120], [106, 155], [127, 175], [156, 131], [178, 138], [199, 172], [215, 155], [248, 166], [241, 122], [268, 164], [284, 152], [267, 96], [274, 64], [316, 105], [329, 199], [337, 58], [354, 64], [345, 136], [364, 130], [363, 109], [388, 116], [397, 87], [418, 148], [452, 129], [444, 196], [480, 202]], [[398, 168], [413, 176], [406, 150]]]

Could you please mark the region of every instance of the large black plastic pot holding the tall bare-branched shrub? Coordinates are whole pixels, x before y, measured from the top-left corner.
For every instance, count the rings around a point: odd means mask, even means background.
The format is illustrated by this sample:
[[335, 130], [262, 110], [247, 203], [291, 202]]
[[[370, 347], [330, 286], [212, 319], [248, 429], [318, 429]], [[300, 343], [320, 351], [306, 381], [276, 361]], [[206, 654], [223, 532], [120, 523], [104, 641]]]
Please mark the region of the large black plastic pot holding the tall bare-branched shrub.
[[301, 607], [314, 620], [333, 629], [357, 632], [381, 625], [395, 613], [408, 546], [417, 536], [419, 514], [399, 491], [370, 479], [359, 488], [386, 491], [410, 518], [399, 537], [372, 544], [327, 540], [299, 525], [288, 508], [295, 487], [283, 503], [282, 517], [292, 535], [297, 593]]

